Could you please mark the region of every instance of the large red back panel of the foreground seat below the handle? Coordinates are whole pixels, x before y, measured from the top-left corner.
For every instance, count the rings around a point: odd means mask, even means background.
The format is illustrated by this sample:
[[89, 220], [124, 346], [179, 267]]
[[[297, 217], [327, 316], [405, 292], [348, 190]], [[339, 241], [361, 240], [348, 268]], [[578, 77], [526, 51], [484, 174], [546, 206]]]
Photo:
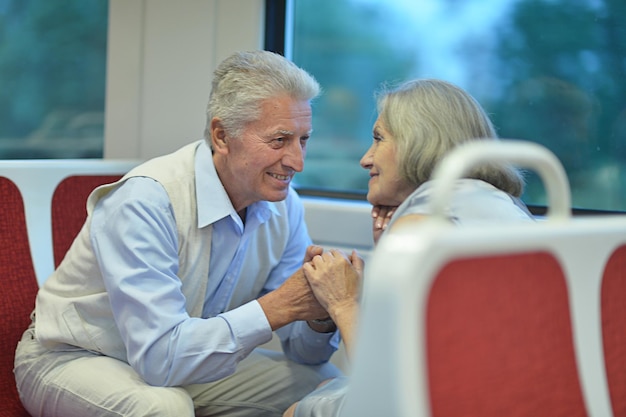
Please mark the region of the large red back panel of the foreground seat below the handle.
[[433, 416], [585, 416], [563, 272], [546, 253], [456, 260], [428, 300]]

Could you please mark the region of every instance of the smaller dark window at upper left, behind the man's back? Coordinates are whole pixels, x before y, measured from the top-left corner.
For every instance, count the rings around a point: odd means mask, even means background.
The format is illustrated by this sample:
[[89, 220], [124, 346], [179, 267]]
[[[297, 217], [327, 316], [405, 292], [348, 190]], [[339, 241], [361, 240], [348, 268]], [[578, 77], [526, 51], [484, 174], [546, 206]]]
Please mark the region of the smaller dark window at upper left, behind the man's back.
[[101, 158], [108, 1], [0, 0], [0, 159]]

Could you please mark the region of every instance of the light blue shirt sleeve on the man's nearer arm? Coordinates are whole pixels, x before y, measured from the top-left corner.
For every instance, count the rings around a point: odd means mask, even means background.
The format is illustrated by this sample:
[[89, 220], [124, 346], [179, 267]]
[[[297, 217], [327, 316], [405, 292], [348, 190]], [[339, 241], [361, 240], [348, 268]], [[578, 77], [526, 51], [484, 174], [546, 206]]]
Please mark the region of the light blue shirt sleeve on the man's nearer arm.
[[[218, 380], [271, 339], [256, 301], [213, 318], [188, 315], [176, 275], [176, 223], [156, 181], [131, 178], [100, 200], [91, 240], [128, 361], [149, 384]], [[234, 329], [231, 321], [246, 325]]]

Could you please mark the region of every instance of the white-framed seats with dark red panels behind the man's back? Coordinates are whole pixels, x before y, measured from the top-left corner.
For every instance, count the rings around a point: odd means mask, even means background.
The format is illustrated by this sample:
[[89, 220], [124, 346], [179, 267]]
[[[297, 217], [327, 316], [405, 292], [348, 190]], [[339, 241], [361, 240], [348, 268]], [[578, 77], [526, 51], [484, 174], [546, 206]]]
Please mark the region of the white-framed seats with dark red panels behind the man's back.
[[28, 416], [15, 387], [13, 360], [17, 342], [30, 322], [39, 284], [78, 233], [91, 189], [116, 180], [138, 163], [0, 161], [1, 417]]

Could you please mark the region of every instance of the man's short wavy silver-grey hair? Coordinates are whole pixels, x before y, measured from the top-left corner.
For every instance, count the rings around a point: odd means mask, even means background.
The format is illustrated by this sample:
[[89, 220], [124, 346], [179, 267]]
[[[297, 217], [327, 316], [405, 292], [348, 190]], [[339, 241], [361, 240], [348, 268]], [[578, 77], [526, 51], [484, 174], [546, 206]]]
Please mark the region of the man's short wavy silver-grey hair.
[[246, 124], [260, 117], [260, 104], [279, 95], [308, 101], [320, 94], [318, 82], [285, 57], [268, 51], [236, 52], [213, 74], [204, 137], [211, 144], [211, 120], [239, 136]]

